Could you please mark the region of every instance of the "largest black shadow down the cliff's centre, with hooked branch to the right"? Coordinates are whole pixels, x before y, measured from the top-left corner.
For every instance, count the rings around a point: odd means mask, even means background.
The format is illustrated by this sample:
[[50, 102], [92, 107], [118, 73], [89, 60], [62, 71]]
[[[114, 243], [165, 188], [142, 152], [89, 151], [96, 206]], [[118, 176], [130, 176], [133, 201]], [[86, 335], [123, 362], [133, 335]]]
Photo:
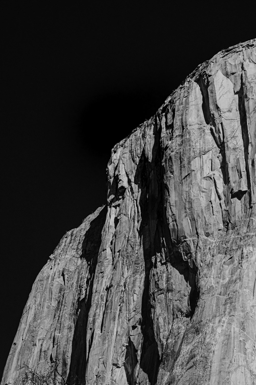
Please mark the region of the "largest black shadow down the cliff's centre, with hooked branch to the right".
[[[142, 240], [145, 262], [145, 280], [141, 310], [143, 341], [139, 365], [140, 369], [147, 374], [150, 385], [155, 385], [157, 382], [157, 374], [161, 362], [154, 334], [151, 311], [152, 305], [150, 301], [150, 271], [154, 265], [155, 267], [157, 266], [157, 255], [160, 255], [161, 264], [169, 262], [183, 275], [185, 281], [188, 282], [191, 287], [188, 313], [183, 314], [183, 316], [190, 319], [192, 318], [198, 300], [196, 285], [197, 268], [194, 266], [195, 270], [191, 269], [188, 262], [182, 259], [178, 249], [180, 240], [177, 239], [176, 244], [173, 244], [170, 236], [164, 206], [163, 154], [160, 146], [161, 133], [158, 131], [156, 123], [153, 133], [154, 146], [152, 150], [152, 161], [149, 162], [143, 151], [134, 178], [134, 182], [141, 190], [139, 200], [141, 210], [139, 236]], [[166, 253], [163, 250], [165, 250]], [[134, 385], [132, 381], [129, 382], [132, 376], [128, 376], [128, 373], [126, 374], [127, 382]]]

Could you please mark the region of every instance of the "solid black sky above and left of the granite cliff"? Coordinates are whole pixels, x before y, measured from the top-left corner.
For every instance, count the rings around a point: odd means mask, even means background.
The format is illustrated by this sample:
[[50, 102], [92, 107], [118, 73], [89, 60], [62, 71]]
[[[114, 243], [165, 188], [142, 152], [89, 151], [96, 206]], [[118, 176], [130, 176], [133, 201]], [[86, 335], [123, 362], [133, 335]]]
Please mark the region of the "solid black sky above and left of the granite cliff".
[[199, 63], [256, 37], [254, 12], [206, 3], [0, 2], [0, 376], [36, 275], [106, 202], [114, 144]]

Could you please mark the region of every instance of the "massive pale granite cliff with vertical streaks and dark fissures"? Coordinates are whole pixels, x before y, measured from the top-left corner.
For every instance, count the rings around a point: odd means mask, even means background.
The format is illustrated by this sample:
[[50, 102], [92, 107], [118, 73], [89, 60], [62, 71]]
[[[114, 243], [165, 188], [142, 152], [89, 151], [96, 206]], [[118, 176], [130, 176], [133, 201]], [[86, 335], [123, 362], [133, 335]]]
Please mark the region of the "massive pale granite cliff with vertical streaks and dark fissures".
[[253, 384], [256, 40], [221, 51], [117, 144], [108, 204], [61, 240], [2, 384]]

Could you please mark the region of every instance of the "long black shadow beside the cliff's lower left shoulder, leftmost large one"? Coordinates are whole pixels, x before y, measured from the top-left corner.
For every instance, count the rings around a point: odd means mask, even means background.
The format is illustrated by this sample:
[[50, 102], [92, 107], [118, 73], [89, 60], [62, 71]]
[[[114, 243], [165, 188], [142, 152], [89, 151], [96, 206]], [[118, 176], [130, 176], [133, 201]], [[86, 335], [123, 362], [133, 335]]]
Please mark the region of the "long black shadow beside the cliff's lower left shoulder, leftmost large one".
[[[101, 231], [103, 229], [107, 214], [107, 206], [105, 206], [97, 218], [91, 221], [89, 229], [86, 231], [83, 245], [81, 259], [85, 259], [88, 264], [88, 275], [86, 279], [86, 293], [82, 299], [78, 298], [78, 306], [76, 310], [76, 325], [74, 329], [73, 341], [72, 341], [72, 353], [71, 363], [68, 374], [68, 384], [85, 384], [87, 357], [86, 351], [88, 350], [88, 357], [91, 348], [86, 345], [86, 332], [88, 328], [88, 314], [91, 308], [92, 300], [92, 287], [95, 275], [95, 269], [97, 265], [97, 257], [99, 248], [101, 246]], [[83, 266], [83, 261], [81, 265]], [[91, 341], [93, 335], [91, 336]]]

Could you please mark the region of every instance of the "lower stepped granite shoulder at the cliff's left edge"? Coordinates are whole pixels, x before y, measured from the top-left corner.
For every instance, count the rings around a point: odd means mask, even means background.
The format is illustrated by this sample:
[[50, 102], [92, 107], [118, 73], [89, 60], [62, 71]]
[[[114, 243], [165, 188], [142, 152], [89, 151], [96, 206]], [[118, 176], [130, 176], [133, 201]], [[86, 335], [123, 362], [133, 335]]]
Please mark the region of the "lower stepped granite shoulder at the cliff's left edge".
[[[38, 274], [13, 341], [2, 383], [20, 383], [24, 363], [44, 374], [58, 356], [68, 374], [80, 298], [87, 294], [90, 262], [97, 260], [106, 208], [68, 231]], [[86, 253], [86, 258], [84, 258]]]

